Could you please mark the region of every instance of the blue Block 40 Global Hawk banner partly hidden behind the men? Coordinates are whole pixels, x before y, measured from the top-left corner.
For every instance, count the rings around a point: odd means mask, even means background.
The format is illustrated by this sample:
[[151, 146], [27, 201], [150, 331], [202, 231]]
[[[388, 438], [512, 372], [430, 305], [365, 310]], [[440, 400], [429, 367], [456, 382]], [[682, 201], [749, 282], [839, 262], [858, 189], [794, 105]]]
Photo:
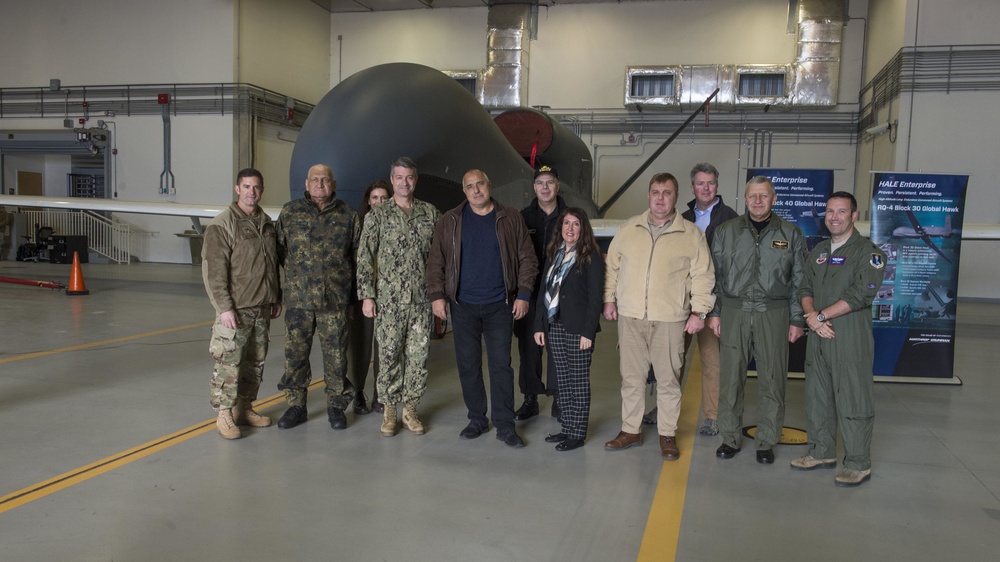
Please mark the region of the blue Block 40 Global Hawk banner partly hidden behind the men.
[[[801, 228], [809, 250], [830, 237], [823, 219], [826, 217], [826, 200], [833, 193], [833, 170], [747, 169], [747, 181], [754, 176], [770, 178], [778, 196], [771, 212]], [[788, 346], [790, 373], [805, 371], [807, 336]], [[751, 363], [750, 369], [755, 370], [756, 365]]]

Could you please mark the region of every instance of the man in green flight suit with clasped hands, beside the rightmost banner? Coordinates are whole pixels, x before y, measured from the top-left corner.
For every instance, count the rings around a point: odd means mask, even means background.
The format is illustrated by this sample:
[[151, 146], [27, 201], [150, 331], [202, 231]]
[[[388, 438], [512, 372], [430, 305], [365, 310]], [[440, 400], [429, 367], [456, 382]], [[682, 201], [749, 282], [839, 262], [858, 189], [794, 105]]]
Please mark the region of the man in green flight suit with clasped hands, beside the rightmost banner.
[[885, 254], [854, 228], [858, 202], [838, 191], [826, 202], [830, 239], [806, 259], [802, 311], [814, 333], [806, 344], [806, 433], [809, 451], [795, 470], [836, 468], [837, 426], [844, 438], [844, 469], [837, 486], [871, 478], [875, 425], [872, 301], [882, 285]]

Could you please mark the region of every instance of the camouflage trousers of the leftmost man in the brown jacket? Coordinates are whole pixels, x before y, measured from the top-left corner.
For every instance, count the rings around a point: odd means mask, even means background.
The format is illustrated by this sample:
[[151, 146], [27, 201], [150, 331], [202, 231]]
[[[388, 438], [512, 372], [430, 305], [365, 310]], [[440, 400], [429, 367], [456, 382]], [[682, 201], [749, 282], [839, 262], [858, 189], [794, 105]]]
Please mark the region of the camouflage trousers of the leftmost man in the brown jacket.
[[212, 407], [232, 408], [236, 397], [253, 402], [264, 379], [271, 305], [236, 309], [237, 328], [215, 319], [208, 351], [215, 358], [212, 370]]

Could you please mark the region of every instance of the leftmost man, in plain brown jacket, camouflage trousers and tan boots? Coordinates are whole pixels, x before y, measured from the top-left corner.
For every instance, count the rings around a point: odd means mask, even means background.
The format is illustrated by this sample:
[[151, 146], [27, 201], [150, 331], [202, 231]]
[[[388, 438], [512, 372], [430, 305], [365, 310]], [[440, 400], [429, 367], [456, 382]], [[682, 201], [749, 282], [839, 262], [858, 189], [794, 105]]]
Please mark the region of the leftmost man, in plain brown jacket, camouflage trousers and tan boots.
[[209, 351], [212, 407], [216, 429], [226, 439], [242, 437], [238, 425], [267, 427], [270, 418], [253, 411], [264, 378], [268, 330], [281, 314], [274, 224], [259, 206], [264, 177], [252, 168], [240, 171], [234, 188], [238, 200], [205, 229], [201, 271], [215, 307]]

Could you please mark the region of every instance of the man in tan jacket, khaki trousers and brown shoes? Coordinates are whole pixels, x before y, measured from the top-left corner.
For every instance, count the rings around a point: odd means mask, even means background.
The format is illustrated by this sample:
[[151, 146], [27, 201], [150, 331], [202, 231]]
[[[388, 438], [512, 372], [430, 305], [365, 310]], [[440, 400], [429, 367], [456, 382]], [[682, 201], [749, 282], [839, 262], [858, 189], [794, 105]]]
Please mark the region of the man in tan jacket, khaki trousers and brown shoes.
[[677, 178], [649, 182], [649, 210], [625, 221], [608, 248], [604, 317], [618, 320], [622, 375], [622, 430], [604, 444], [611, 451], [642, 444], [643, 389], [650, 366], [657, 375], [660, 454], [680, 457], [684, 334], [698, 333], [715, 305], [715, 269], [705, 235], [676, 211]]

